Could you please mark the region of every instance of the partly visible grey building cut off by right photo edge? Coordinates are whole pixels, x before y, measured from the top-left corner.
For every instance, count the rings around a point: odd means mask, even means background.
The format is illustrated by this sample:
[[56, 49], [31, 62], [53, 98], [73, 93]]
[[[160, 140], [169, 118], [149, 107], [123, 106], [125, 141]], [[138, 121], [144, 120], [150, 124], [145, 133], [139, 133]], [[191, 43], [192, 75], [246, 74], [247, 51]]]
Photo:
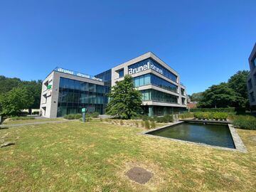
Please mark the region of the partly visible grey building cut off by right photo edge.
[[256, 106], [256, 43], [249, 57], [250, 73], [247, 77], [247, 90], [250, 106]]

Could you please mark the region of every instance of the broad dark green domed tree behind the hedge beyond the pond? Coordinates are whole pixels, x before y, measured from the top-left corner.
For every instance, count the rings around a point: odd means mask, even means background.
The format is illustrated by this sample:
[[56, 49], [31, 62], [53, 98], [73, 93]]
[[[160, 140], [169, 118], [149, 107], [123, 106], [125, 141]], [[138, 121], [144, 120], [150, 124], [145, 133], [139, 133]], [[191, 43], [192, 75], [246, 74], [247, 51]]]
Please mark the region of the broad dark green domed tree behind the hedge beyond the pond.
[[203, 92], [199, 107], [238, 107], [240, 100], [241, 97], [228, 87], [228, 83], [221, 82]]

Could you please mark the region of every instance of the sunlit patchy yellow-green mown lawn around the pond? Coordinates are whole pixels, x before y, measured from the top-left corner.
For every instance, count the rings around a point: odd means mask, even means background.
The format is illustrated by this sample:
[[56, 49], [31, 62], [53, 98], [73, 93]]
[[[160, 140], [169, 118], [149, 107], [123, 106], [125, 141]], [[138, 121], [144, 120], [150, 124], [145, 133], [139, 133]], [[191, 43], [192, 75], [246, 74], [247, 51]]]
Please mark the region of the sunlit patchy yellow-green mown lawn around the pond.
[[[142, 131], [96, 121], [0, 129], [0, 144], [16, 143], [0, 148], [0, 191], [255, 191], [256, 131], [238, 129], [247, 154]], [[130, 181], [133, 166], [153, 178]]]

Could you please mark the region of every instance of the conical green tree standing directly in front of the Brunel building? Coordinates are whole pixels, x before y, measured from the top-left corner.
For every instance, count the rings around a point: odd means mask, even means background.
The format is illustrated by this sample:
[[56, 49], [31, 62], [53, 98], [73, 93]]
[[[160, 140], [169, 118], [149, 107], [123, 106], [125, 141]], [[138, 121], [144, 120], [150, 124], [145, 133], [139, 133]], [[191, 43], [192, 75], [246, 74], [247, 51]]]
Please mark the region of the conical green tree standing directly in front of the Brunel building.
[[142, 94], [134, 88], [132, 77], [124, 76], [124, 80], [116, 82], [110, 93], [110, 102], [107, 105], [107, 114], [122, 119], [130, 119], [141, 110]]

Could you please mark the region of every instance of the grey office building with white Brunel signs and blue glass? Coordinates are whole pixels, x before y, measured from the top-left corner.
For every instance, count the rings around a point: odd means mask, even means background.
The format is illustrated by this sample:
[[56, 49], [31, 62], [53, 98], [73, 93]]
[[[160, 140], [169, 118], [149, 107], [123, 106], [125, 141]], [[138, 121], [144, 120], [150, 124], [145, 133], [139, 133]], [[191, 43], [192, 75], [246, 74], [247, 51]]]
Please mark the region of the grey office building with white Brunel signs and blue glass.
[[186, 87], [178, 73], [154, 53], [148, 52], [95, 76], [55, 68], [43, 80], [41, 114], [62, 117], [64, 114], [105, 113], [107, 92], [115, 82], [131, 75], [134, 86], [142, 92], [142, 112], [149, 116], [186, 110]]

